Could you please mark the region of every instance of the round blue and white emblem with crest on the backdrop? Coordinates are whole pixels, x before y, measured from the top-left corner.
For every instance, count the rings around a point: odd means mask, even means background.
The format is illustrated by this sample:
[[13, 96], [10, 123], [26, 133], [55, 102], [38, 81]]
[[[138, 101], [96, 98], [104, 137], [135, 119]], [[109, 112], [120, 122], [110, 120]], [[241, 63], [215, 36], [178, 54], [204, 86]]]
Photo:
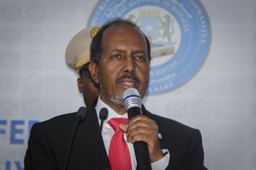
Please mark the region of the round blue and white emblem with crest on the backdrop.
[[135, 22], [151, 43], [148, 94], [182, 86], [207, 58], [211, 26], [199, 0], [102, 0], [91, 13], [88, 26], [117, 17]]

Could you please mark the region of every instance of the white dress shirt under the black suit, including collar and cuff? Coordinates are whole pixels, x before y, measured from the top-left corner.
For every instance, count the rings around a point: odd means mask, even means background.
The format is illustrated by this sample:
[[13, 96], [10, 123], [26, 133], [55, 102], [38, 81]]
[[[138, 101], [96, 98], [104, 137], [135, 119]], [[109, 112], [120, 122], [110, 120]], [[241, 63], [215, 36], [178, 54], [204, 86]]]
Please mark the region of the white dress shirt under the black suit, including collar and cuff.
[[[105, 148], [107, 150], [109, 150], [109, 144], [110, 144], [110, 140], [112, 139], [113, 136], [113, 128], [108, 124], [108, 121], [113, 118], [128, 118], [127, 113], [125, 113], [125, 115], [119, 115], [118, 113], [116, 113], [115, 111], [113, 111], [113, 109], [111, 109], [108, 105], [106, 105], [102, 99], [99, 97], [98, 101], [97, 101], [97, 105], [96, 105], [96, 114], [98, 117], [98, 121], [99, 124], [101, 124], [101, 119], [99, 118], [99, 114], [101, 109], [105, 107], [108, 109], [108, 118], [103, 122], [102, 125], [102, 139], [103, 139], [103, 143], [105, 145]], [[136, 157], [135, 157], [135, 153], [134, 153], [134, 148], [133, 148], [133, 144], [131, 144], [130, 142], [127, 142], [127, 138], [126, 135], [124, 133], [124, 138], [126, 141], [126, 144], [128, 146], [128, 149], [130, 150], [130, 155], [131, 155], [131, 167], [132, 169], [136, 169], [137, 167], [137, 161], [136, 161]], [[165, 169], [168, 164], [169, 164], [169, 160], [170, 160], [170, 154], [168, 150], [163, 150], [164, 152], [167, 152], [166, 156], [164, 156], [162, 159], [160, 159], [159, 161], [155, 161], [154, 163], [151, 163], [151, 167], [154, 170], [160, 170], [160, 169]]]

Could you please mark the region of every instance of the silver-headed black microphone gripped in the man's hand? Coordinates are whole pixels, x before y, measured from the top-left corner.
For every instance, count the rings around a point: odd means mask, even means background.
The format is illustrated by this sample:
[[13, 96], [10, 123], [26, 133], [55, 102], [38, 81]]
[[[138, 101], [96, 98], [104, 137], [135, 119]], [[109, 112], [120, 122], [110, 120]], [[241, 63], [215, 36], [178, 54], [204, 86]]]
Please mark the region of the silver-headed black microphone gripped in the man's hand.
[[[136, 88], [127, 88], [123, 94], [123, 102], [129, 119], [134, 116], [142, 115], [142, 98]], [[143, 141], [137, 141], [133, 144], [137, 167], [140, 170], [150, 170], [151, 162], [148, 151], [148, 144]]]

